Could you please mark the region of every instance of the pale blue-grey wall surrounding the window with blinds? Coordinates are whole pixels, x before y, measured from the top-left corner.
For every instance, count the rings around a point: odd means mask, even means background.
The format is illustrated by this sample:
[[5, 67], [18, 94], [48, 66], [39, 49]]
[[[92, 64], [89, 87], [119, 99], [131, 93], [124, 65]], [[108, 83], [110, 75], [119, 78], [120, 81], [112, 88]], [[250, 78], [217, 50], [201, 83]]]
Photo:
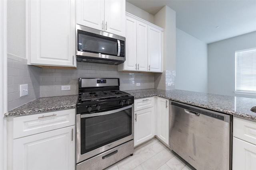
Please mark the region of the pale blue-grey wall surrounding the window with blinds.
[[235, 51], [254, 47], [256, 31], [208, 44], [208, 92], [235, 96]]

